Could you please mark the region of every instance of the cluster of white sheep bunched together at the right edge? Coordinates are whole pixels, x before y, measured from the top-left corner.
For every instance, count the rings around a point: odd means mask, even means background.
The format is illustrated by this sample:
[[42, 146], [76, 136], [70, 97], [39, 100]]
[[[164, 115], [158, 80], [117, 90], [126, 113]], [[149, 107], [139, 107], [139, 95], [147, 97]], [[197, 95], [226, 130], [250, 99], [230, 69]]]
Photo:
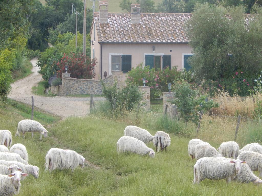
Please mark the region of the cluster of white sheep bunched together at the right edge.
[[207, 142], [192, 139], [188, 143], [188, 154], [197, 160], [194, 165], [194, 184], [205, 178], [226, 179], [227, 183], [231, 180], [262, 183], [252, 172], [259, 171], [262, 177], [262, 146], [259, 143], [247, 144], [239, 150], [236, 142], [228, 141], [221, 143], [216, 150]]

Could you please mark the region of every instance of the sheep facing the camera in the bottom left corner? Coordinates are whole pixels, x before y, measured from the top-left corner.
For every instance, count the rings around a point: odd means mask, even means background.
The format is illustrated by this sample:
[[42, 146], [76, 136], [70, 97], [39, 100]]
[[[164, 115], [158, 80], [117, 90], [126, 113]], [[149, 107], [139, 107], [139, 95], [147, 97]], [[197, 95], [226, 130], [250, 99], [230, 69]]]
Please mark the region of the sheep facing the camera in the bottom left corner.
[[21, 176], [28, 176], [28, 174], [15, 171], [9, 175], [0, 175], [1, 196], [13, 196], [18, 194], [21, 187]]

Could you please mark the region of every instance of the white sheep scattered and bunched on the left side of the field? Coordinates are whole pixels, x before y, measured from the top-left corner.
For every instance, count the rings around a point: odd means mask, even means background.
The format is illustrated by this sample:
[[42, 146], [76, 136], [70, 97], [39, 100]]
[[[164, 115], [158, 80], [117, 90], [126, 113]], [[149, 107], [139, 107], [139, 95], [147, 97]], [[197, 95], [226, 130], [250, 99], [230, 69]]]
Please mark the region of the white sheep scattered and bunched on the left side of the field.
[[[47, 137], [47, 130], [35, 120], [21, 120], [18, 123], [16, 136], [20, 132], [25, 138], [25, 132], [40, 133], [40, 139]], [[17, 143], [12, 145], [12, 133], [9, 130], [0, 130], [0, 195], [12, 196], [18, 194], [21, 183], [28, 174], [39, 177], [39, 168], [28, 164], [29, 158], [26, 147]], [[85, 158], [72, 150], [51, 148], [46, 154], [46, 170], [74, 169], [80, 165], [83, 168]], [[22, 173], [24, 172], [24, 173]]]

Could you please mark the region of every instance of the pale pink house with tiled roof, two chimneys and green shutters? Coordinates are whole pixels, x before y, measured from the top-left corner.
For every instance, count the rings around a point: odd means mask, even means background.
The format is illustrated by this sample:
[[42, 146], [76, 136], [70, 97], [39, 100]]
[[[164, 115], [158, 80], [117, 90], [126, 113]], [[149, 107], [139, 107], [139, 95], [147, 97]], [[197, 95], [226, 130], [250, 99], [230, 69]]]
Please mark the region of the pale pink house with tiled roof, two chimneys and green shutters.
[[[91, 58], [97, 59], [96, 78], [112, 71], [125, 73], [139, 64], [154, 68], [177, 66], [190, 69], [192, 55], [184, 23], [192, 14], [140, 13], [131, 4], [131, 13], [108, 13], [108, 1], [99, 1], [91, 27]], [[117, 68], [118, 67], [118, 68]]]

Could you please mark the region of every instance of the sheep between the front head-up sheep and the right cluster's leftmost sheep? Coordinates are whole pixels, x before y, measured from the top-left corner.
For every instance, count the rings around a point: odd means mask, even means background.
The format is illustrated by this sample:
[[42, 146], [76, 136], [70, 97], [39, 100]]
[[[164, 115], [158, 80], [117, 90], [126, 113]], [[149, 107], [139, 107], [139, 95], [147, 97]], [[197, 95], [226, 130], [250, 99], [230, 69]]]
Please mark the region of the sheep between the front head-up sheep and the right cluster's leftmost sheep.
[[216, 151], [209, 143], [199, 143], [195, 146], [195, 158], [196, 160], [203, 157], [222, 157], [219, 152]]

